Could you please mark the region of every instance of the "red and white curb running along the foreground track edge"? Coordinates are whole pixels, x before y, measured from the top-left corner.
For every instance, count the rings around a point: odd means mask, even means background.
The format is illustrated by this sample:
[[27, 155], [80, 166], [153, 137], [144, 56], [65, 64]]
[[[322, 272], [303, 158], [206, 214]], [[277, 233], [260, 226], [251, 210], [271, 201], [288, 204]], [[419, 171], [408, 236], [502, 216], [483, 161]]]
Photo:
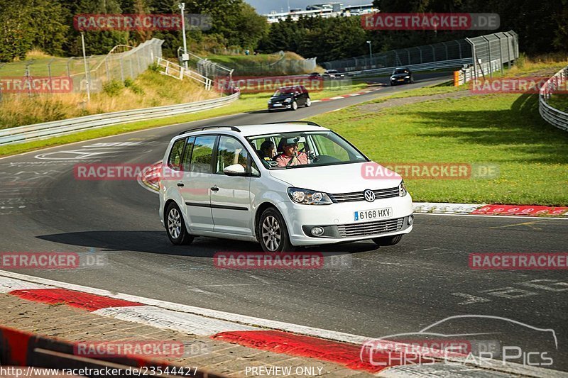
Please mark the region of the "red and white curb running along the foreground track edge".
[[452, 363], [401, 365], [406, 360], [404, 357], [391, 360], [386, 353], [384, 356], [377, 353], [373, 361], [385, 364], [371, 364], [360, 357], [362, 345], [371, 340], [365, 336], [113, 293], [14, 272], [0, 271], [0, 293], [46, 304], [65, 304], [101, 316], [206, 336], [248, 348], [333, 362], [349, 369], [371, 372], [378, 377], [479, 377], [487, 374], [498, 377], [568, 377], [564, 372], [518, 364], [503, 365], [493, 360], [484, 361], [481, 366], [466, 360], [466, 357], [451, 357]]

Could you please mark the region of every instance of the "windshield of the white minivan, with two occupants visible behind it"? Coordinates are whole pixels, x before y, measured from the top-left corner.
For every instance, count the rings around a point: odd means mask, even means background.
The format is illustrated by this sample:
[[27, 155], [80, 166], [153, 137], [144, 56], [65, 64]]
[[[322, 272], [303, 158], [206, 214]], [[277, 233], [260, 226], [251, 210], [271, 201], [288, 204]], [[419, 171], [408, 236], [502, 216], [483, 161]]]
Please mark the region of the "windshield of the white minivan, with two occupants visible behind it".
[[368, 161], [349, 142], [329, 130], [256, 135], [247, 139], [268, 169]]

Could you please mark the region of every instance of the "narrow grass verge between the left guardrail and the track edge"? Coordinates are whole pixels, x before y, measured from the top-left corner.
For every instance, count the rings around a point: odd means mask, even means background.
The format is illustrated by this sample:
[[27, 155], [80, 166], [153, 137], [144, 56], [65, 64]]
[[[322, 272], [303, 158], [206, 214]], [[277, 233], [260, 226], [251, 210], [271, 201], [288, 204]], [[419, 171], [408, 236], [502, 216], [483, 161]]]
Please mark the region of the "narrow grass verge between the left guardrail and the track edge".
[[[366, 84], [356, 84], [338, 90], [325, 90], [320, 92], [312, 92], [312, 99], [324, 99], [329, 96], [337, 96], [339, 94], [351, 93], [366, 87]], [[39, 150], [40, 148], [52, 147], [55, 145], [64, 145], [67, 143], [79, 142], [81, 140], [89, 140], [101, 138], [109, 135], [128, 133], [130, 131], [143, 130], [146, 128], [155, 128], [159, 126], [173, 125], [175, 123], [185, 123], [192, 121], [200, 121], [202, 119], [229, 116], [231, 114], [242, 113], [246, 111], [256, 111], [266, 109], [266, 101], [270, 94], [243, 94], [241, 98], [232, 104], [217, 109], [210, 109], [198, 113], [190, 113], [181, 116], [173, 116], [167, 118], [158, 118], [148, 121], [139, 121], [133, 123], [124, 123], [121, 125], [108, 126], [94, 130], [85, 130], [72, 135], [63, 135], [45, 140], [36, 140], [18, 145], [6, 145], [0, 147], [0, 157], [7, 155], [15, 155], [21, 152]]]

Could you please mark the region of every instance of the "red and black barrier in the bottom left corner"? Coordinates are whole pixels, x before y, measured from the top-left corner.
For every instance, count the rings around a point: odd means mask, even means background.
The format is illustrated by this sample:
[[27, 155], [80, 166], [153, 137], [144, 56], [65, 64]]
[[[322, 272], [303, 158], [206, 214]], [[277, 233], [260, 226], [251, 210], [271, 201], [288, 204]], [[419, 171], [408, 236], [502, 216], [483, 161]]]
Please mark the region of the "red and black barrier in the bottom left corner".
[[[21, 330], [0, 326], [0, 366], [33, 366], [52, 369], [129, 369], [133, 367], [166, 367], [173, 369], [176, 365], [145, 357], [122, 355], [119, 357], [93, 358], [77, 356], [75, 344], [64, 340], [35, 335]], [[179, 366], [178, 366], [179, 369]], [[194, 370], [192, 369], [192, 373]], [[136, 374], [131, 374], [136, 376]], [[142, 374], [138, 374], [142, 375]], [[103, 374], [103, 376], [105, 376]], [[224, 378], [221, 374], [211, 374], [197, 369], [192, 377]], [[160, 377], [173, 375], [160, 374]]]

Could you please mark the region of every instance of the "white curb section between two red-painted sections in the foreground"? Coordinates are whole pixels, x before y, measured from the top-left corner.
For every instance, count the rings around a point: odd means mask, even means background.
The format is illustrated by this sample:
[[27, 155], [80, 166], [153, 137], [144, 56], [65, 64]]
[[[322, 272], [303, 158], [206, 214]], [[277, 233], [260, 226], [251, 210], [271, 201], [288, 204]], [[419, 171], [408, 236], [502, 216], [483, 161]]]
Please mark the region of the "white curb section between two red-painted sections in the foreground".
[[147, 326], [179, 330], [198, 336], [210, 336], [220, 332], [234, 330], [261, 330], [258, 327], [244, 326], [242, 324], [220, 321], [192, 313], [164, 310], [154, 306], [126, 306], [101, 308], [97, 313], [110, 318], [146, 324]]

